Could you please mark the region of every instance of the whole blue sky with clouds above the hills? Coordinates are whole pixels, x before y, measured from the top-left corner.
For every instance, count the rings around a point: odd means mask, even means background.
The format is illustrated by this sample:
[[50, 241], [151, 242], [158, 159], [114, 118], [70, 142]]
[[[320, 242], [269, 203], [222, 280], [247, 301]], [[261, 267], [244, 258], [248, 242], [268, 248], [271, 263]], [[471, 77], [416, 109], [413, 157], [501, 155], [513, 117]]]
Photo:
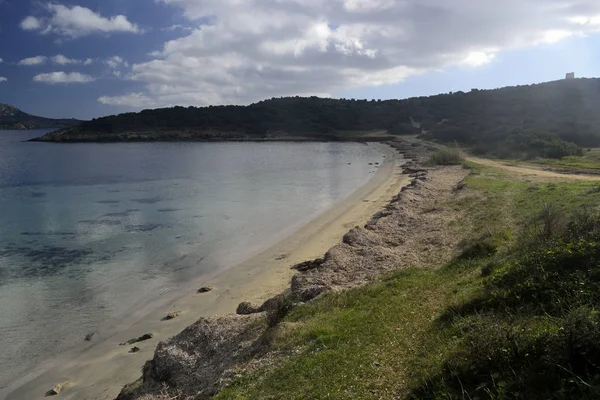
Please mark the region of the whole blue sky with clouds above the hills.
[[0, 0], [0, 103], [54, 118], [595, 77], [598, 0]]

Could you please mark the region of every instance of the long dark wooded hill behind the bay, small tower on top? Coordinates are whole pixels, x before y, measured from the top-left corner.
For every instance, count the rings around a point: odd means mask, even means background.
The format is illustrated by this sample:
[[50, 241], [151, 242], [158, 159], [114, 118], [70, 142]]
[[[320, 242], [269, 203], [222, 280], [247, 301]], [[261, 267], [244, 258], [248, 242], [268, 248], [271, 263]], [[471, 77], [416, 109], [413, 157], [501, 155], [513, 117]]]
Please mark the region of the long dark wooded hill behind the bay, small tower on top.
[[600, 79], [405, 100], [287, 97], [249, 106], [173, 107], [94, 119], [43, 141], [355, 139], [356, 132], [423, 133], [520, 158], [600, 145]]

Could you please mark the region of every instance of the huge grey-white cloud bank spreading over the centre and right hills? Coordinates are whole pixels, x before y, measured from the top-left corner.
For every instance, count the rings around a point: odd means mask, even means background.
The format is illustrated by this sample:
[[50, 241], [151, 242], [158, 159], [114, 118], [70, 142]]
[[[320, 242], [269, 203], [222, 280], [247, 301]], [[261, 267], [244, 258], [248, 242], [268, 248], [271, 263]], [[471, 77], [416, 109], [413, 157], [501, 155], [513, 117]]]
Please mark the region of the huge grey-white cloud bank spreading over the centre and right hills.
[[131, 66], [127, 77], [143, 91], [102, 103], [243, 104], [328, 94], [449, 66], [482, 67], [508, 49], [600, 32], [597, 0], [156, 1], [181, 9], [197, 28]]

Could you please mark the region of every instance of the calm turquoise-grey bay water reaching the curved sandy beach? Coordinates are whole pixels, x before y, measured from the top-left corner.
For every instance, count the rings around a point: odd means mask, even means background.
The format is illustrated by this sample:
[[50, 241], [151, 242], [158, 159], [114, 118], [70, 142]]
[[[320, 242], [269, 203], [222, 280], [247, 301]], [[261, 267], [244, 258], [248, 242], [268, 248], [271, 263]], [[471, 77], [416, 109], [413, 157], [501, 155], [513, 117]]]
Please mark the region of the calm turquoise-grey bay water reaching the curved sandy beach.
[[365, 184], [355, 143], [23, 143], [0, 132], [0, 389]]

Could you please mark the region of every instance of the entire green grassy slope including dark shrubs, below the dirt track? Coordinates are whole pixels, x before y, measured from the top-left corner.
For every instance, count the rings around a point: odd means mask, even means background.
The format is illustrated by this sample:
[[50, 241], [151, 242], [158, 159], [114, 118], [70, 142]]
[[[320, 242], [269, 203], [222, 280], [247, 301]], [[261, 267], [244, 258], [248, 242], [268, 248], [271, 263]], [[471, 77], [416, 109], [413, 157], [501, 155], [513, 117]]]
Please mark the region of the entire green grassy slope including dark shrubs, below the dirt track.
[[216, 398], [600, 398], [600, 218], [581, 211], [600, 190], [469, 167], [452, 262], [292, 309], [271, 344], [289, 356]]

